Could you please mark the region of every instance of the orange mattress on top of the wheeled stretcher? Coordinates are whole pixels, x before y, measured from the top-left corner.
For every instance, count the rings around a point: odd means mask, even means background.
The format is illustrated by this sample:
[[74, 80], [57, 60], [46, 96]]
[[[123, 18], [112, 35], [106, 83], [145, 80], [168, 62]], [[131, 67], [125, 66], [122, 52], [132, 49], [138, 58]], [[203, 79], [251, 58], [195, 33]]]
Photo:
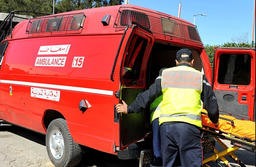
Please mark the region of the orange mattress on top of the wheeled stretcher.
[[[249, 120], [239, 120], [229, 115], [220, 115], [219, 126], [215, 127], [208, 118], [208, 115], [204, 113], [207, 113], [207, 111], [203, 109], [201, 114], [203, 127], [211, 127], [215, 130], [219, 130], [223, 133], [231, 134], [236, 137], [247, 137], [255, 140], [255, 122]], [[233, 121], [233, 123], [225, 119], [230, 119]]]

